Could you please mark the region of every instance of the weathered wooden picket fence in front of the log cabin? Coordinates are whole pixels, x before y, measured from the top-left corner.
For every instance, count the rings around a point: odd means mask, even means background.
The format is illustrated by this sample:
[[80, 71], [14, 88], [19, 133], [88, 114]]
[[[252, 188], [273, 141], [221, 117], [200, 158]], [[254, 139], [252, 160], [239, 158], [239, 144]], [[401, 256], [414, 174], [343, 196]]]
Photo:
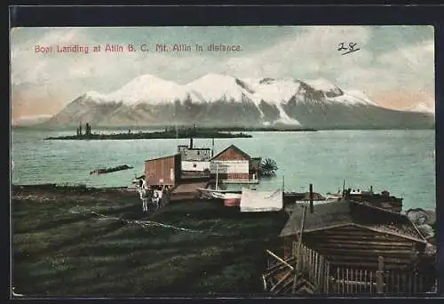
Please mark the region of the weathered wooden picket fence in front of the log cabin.
[[316, 286], [317, 293], [417, 293], [428, 292], [434, 279], [429, 274], [414, 271], [384, 270], [384, 258], [379, 257], [378, 270], [339, 268], [303, 244], [294, 243], [293, 256], [297, 271]]

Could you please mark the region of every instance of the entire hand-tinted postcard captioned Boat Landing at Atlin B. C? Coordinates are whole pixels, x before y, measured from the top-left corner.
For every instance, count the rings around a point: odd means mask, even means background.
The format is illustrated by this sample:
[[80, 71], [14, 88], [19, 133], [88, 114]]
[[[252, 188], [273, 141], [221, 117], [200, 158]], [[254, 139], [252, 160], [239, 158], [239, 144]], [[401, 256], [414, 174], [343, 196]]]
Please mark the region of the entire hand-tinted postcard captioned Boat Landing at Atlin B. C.
[[12, 28], [12, 296], [436, 291], [431, 26]]

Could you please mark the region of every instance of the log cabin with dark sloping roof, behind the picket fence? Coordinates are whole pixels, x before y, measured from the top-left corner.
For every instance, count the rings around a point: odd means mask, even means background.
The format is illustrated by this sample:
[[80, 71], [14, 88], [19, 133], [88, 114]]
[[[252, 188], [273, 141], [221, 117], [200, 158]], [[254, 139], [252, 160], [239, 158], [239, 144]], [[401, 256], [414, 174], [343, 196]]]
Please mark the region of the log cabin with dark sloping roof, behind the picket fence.
[[[303, 208], [297, 206], [281, 230], [287, 257], [300, 236], [302, 219]], [[377, 268], [379, 256], [386, 267], [406, 267], [428, 244], [407, 216], [344, 199], [316, 204], [313, 213], [306, 210], [302, 242], [332, 266], [360, 268]]]

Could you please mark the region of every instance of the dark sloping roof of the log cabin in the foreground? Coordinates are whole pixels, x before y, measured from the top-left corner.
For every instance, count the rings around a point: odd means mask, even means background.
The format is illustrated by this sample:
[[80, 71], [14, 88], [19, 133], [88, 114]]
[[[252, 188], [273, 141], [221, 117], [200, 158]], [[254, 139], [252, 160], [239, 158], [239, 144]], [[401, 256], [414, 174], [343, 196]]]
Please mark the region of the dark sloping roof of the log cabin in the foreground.
[[[292, 236], [299, 233], [302, 224], [304, 208], [295, 207], [289, 220], [279, 236]], [[387, 211], [369, 204], [340, 200], [337, 202], [315, 204], [313, 213], [309, 208], [305, 212], [304, 232], [323, 230], [346, 225], [357, 225], [382, 233], [426, 242], [424, 236], [404, 214]]]

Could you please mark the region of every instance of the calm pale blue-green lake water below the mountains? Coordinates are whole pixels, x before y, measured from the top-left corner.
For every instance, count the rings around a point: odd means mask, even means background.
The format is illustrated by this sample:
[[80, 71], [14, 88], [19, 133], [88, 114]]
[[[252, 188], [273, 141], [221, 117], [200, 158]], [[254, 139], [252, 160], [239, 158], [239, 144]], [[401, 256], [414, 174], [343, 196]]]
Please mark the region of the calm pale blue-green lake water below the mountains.
[[[69, 183], [95, 187], [129, 186], [143, 173], [144, 160], [172, 155], [189, 140], [43, 140], [72, 132], [12, 132], [12, 182]], [[254, 132], [252, 139], [215, 140], [215, 153], [234, 143], [250, 156], [273, 158], [277, 176], [257, 188], [302, 191], [313, 183], [316, 192], [347, 188], [404, 197], [404, 209], [435, 208], [435, 133], [420, 131]], [[211, 147], [211, 140], [194, 140]], [[99, 167], [119, 164], [134, 169], [90, 175]]]

